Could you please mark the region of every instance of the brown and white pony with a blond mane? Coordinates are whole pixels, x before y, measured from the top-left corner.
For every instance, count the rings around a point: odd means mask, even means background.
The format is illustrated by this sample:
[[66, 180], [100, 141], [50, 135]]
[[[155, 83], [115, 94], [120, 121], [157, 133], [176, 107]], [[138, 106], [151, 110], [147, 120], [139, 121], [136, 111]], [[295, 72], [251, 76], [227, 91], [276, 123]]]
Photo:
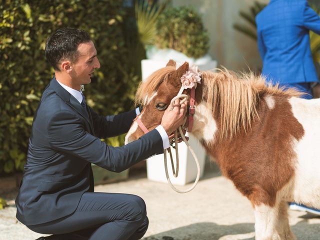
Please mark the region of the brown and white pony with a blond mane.
[[[176, 69], [170, 60], [140, 84], [136, 102], [143, 110], [138, 117], [149, 130], [160, 124], [163, 103], [177, 94], [187, 70], [187, 62]], [[225, 69], [203, 71], [195, 89], [191, 133], [250, 200], [259, 240], [295, 238], [288, 201], [320, 208], [320, 99], [299, 95], [266, 86], [261, 76]], [[133, 122], [126, 142], [142, 134]]]

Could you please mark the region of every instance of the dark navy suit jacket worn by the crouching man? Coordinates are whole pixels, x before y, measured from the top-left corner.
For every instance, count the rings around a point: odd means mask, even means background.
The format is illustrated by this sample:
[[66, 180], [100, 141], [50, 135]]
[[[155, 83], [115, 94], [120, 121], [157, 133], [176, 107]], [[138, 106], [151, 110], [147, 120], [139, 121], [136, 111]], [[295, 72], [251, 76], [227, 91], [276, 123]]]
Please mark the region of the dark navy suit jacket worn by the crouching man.
[[71, 214], [82, 193], [93, 191], [91, 162], [120, 172], [162, 153], [155, 129], [121, 147], [100, 140], [127, 132], [134, 117], [134, 110], [112, 116], [100, 116], [90, 107], [86, 111], [53, 77], [34, 115], [15, 199], [17, 219], [34, 225]]

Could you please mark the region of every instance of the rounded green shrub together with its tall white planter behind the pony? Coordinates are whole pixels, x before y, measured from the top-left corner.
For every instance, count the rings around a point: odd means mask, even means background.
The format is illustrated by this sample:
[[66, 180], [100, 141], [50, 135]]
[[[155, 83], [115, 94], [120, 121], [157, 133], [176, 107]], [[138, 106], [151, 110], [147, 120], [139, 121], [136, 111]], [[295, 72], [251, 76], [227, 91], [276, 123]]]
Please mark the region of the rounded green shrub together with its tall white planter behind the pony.
[[[144, 3], [145, 4], [145, 3]], [[142, 8], [140, 8], [141, 10]], [[144, 7], [146, 10], [147, 8]], [[152, 11], [150, 9], [157, 9]], [[200, 70], [210, 70], [216, 67], [216, 61], [206, 54], [209, 48], [208, 34], [204, 29], [200, 15], [190, 6], [179, 7], [157, 7], [153, 5], [149, 12], [144, 14], [151, 17], [152, 21], [147, 20], [148, 24], [148, 41], [144, 41], [147, 59], [141, 60], [142, 80], [146, 79], [153, 71], [164, 67], [169, 59], [176, 62], [188, 61], [189, 64], [198, 65]], [[145, 29], [139, 26], [137, 15], [137, 28]], [[144, 39], [143, 31], [139, 31], [140, 39]], [[143, 42], [143, 41], [142, 41]], [[201, 172], [203, 174], [205, 163], [205, 150], [199, 142], [189, 135], [189, 144], [195, 151]], [[196, 164], [192, 154], [188, 151], [184, 143], [178, 146], [179, 154], [179, 175], [175, 178], [172, 172], [169, 171], [170, 179], [173, 184], [184, 185], [191, 182], [196, 177]], [[172, 155], [175, 157], [175, 151], [172, 150]], [[170, 162], [170, 161], [168, 161]], [[152, 156], [146, 161], [147, 177], [150, 180], [166, 182], [163, 155]], [[168, 163], [168, 169], [171, 169]]]

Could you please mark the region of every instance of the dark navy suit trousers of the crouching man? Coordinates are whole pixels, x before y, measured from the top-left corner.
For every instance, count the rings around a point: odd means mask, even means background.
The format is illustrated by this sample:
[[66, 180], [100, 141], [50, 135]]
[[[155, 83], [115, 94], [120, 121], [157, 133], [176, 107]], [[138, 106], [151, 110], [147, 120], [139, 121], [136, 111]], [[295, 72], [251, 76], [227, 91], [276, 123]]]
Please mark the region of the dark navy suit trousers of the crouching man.
[[148, 218], [143, 199], [132, 194], [85, 192], [68, 216], [28, 228], [50, 240], [136, 240], [142, 238]]

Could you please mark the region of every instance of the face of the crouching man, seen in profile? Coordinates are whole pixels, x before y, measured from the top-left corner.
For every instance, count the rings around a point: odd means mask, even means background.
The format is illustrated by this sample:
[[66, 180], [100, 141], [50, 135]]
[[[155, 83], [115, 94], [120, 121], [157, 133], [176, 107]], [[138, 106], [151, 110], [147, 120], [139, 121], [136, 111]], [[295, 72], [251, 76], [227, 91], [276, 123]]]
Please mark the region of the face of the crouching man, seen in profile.
[[94, 44], [92, 41], [80, 43], [77, 51], [79, 52], [77, 61], [72, 63], [72, 80], [79, 85], [90, 83], [94, 68], [100, 67]]

